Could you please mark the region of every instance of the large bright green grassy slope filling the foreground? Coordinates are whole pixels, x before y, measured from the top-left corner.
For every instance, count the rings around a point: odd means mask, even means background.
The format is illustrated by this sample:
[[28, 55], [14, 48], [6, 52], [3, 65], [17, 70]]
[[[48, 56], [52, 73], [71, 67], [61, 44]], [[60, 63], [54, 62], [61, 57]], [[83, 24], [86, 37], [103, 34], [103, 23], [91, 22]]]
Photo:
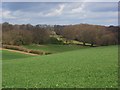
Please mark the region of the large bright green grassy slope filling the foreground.
[[117, 87], [117, 46], [3, 61], [3, 87]]

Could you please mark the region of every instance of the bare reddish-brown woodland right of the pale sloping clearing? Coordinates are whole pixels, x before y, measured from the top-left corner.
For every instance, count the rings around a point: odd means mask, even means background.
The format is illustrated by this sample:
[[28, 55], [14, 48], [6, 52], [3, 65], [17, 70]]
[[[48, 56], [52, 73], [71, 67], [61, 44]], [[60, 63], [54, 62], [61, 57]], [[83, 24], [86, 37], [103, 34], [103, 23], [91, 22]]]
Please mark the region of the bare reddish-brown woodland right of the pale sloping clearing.
[[55, 31], [68, 40], [77, 40], [86, 45], [90, 43], [93, 45], [115, 45], [118, 44], [118, 30], [117, 26], [100, 26], [90, 24], [77, 24], [59, 26], [57, 25]]

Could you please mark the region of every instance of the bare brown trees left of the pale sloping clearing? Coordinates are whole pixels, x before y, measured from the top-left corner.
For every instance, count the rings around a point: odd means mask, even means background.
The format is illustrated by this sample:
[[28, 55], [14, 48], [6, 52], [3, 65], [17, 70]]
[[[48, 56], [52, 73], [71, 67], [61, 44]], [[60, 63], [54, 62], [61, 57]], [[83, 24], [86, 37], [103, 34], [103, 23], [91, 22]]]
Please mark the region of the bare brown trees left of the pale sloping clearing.
[[2, 24], [2, 43], [8, 45], [44, 44], [48, 41], [50, 28], [30, 24]]

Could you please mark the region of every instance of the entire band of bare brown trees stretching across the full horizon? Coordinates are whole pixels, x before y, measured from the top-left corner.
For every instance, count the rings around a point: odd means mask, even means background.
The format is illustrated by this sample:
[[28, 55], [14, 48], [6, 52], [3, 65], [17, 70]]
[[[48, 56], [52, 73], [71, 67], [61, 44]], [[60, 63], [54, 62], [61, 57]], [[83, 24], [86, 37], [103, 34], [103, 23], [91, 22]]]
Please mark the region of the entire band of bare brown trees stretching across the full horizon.
[[[76, 25], [12, 25], [2, 24], [2, 43], [8, 45], [47, 44], [50, 35], [55, 32], [67, 40], [77, 40], [86, 45], [118, 44], [118, 26], [100, 26], [90, 24]], [[53, 40], [53, 38], [52, 38]], [[54, 42], [54, 41], [53, 41]]]

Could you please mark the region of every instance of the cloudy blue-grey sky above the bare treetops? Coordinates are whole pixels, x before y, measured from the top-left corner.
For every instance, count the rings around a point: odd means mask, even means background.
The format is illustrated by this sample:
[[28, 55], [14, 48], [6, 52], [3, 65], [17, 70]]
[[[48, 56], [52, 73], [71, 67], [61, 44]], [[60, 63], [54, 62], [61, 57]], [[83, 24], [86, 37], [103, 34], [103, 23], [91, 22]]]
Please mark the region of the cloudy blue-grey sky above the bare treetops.
[[118, 3], [3, 2], [0, 17], [2, 22], [12, 24], [118, 25]]

